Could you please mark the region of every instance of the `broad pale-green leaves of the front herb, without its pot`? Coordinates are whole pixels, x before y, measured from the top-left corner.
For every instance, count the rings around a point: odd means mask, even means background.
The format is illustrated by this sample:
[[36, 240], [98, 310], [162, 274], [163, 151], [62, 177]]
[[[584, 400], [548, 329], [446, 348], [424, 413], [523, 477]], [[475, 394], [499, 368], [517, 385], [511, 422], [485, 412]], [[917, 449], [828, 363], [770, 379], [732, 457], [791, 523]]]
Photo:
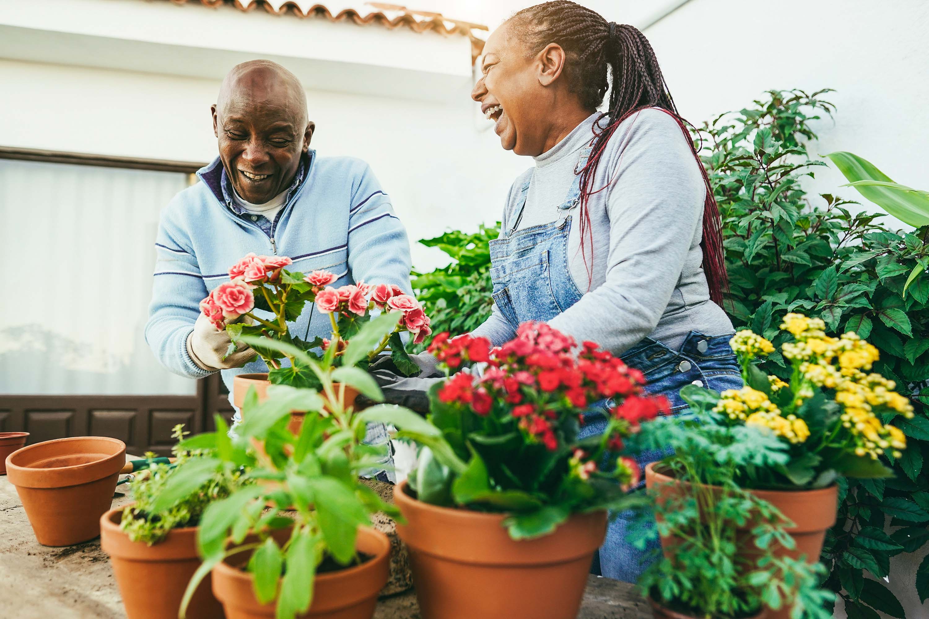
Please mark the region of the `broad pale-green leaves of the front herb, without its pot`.
[[[253, 390], [246, 396], [244, 420], [234, 438], [217, 416], [216, 432], [181, 444], [184, 449], [207, 449], [212, 455], [200, 458], [199, 470], [188, 466], [178, 471], [164, 494], [182, 495], [186, 487], [199, 487], [217, 470], [244, 469], [244, 477], [255, 481], [203, 511], [198, 536], [203, 565], [190, 581], [182, 608], [219, 561], [250, 553], [242, 564], [252, 574], [255, 597], [262, 603], [276, 602], [278, 619], [293, 619], [312, 603], [322, 561], [341, 566], [360, 561], [355, 548], [358, 527], [370, 526], [375, 511], [399, 517], [393, 506], [359, 480], [361, 472], [380, 466], [386, 456], [386, 445], [362, 443], [367, 424], [387, 422], [424, 438], [438, 435], [438, 429], [399, 406], [355, 411], [346, 406], [345, 392], [348, 385], [383, 401], [377, 383], [355, 363], [394, 332], [400, 317], [383, 314], [362, 326], [344, 349], [345, 363], [339, 368], [333, 367], [334, 346], [317, 360], [293, 344], [267, 342], [312, 371], [321, 392], [272, 386], [268, 399], [259, 404]], [[243, 341], [252, 345], [258, 339]], [[294, 409], [307, 411], [296, 435], [288, 430]], [[252, 448], [254, 442], [261, 448]]]

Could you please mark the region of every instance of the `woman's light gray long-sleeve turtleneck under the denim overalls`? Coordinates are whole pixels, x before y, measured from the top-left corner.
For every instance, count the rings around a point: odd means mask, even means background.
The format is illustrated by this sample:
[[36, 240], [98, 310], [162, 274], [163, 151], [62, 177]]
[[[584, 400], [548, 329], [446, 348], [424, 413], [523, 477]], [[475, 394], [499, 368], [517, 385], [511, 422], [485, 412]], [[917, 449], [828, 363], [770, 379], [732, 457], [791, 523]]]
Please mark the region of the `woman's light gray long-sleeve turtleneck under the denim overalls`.
[[[517, 178], [504, 209], [504, 229], [527, 179], [519, 227], [557, 219], [597, 116], [536, 157], [535, 167]], [[552, 327], [578, 342], [597, 342], [614, 355], [647, 336], [676, 350], [691, 330], [708, 336], [733, 330], [726, 313], [710, 300], [703, 273], [706, 188], [697, 166], [680, 127], [661, 110], [642, 110], [617, 128], [594, 179], [593, 187], [606, 189], [587, 205], [591, 229], [584, 234], [584, 254], [577, 209], [571, 212], [569, 270], [584, 294], [549, 321]], [[496, 305], [473, 334], [494, 345], [516, 336]]]

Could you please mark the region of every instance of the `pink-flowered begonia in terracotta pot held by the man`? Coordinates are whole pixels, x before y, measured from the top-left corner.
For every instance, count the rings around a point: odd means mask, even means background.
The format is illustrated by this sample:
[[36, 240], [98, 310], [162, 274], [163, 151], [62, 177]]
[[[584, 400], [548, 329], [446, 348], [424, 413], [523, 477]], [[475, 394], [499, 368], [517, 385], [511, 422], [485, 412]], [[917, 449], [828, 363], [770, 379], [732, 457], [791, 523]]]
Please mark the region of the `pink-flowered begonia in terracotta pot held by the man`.
[[[251, 345], [270, 368], [268, 374], [241, 374], [233, 379], [234, 404], [242, 407], [245, 393], [252, 387], [259, 399], [265, 397], [268, 384], [292, 387], [320, 388], [316, 375], [292, 353], [282, 352], [268, 342], [289, 343], [301, 352], [319, 360], [329, 346], [334, 346], [333, 365], [345, 363], [342, 353], [353, 338], [372, 317], [373, 312], [399, 313], [395, 329], [386, 333], [380, 342], [365, 355], [353, 359], [352, 364], [367, 363], [389, 350], [394, 365], [407, 376], [419, 372], [400, 340], [400, 333], [409, 331], [414, 342], [423, 342], [432, 332], [429, 317], [412, 296], [397, 286], [369, 285], [363, 282], [334, 289], [330, 284], [338, 278], [329, 271], [313, 271], [304, 275], [288, 271], [292, 264], [286, 256], [256, 256], [249, 253], [229, 268], [229, 281], [217, 286], [200, 303], [203, 316], [210, 319], [216, 329], [226, 329], [232, 343], [231, 353], [243, 337], [257, 337]], [[287, 321], [296, 320], [306, 303], [315, 303], [315, 309], [328, 314], [332, 322], [330, 338], [316, 338], [304, 342], [289, 332]], [[267, 312], [262, 317], [255, 310]], [[230, 324], [229, 324], [230, 323]], [[312, 351], [320, 351], [314, 353]], [[286, 359], [289, 364], [282, 364]], [[348, 391], [351, 399], [356, 393]], [[298, 431], [298, 427], [294, 430]]]

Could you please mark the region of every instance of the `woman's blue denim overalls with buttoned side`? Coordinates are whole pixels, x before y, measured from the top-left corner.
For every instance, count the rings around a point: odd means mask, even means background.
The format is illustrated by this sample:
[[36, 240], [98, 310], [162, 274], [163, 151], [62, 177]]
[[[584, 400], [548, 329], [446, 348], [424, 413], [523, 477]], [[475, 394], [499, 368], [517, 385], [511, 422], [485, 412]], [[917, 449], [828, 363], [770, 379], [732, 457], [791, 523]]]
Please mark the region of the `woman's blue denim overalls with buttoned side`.
[[[590, 150], [582, 148], [575, 174], [582, 168]], [[517, 230], [529, 186], [530, 181], [527, 181], [520, 188], [515, 212], [506, 218], [507, 225], [500, 238], [491, 240], [493, 301], [514, 328], [528, 320], [550, 320], [577, 303], [583, 295], [570, 275], [568, 260], [570, 213], [581, 200], [581, 177], [575, 176], [565, 201], [557, 208], [556, 221]], [[617, 328], [622, 327], [618, 325]], [[665, 395], [671, 402], [672, 414], [680, 413], [687, 404], [678, 392], [687, 384], [700, 384], [717, 391], [742, 386], [739, 363], [728, 345], [731, 337], [731, 333], [709, 337], [691, 331], [677, 351], [645, 338], [626, 351], [622, 360], [645, 374], [648, 393]], [[601, 406], [584, 414], [580, 438], [606, 430], [607, 419], [602, 411]], [[642, 454], [637, 459], [644, 469], [648, 462], [669, 453], [657, 451]], [[642, 551], [626, 542], [628, 516], [621, 513], [609, 523], [607, 538], [600, 548], [600, 571], [609, 578], [635, 582], [647, 567], [643, 558], [651, 553], [650, 548]]]

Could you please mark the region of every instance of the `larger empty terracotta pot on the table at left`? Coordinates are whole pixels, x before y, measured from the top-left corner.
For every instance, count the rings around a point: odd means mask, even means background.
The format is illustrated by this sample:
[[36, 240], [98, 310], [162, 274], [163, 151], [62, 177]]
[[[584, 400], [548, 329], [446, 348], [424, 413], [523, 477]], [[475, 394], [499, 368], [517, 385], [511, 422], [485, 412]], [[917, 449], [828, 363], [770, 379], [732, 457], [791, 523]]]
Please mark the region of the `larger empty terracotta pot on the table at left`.
[[10, 454], [7, 476], [39, 544], [71, 546], [100, 535], [100, 516], [110, 509], [124, 464], [123, 441], [59, 438]]

